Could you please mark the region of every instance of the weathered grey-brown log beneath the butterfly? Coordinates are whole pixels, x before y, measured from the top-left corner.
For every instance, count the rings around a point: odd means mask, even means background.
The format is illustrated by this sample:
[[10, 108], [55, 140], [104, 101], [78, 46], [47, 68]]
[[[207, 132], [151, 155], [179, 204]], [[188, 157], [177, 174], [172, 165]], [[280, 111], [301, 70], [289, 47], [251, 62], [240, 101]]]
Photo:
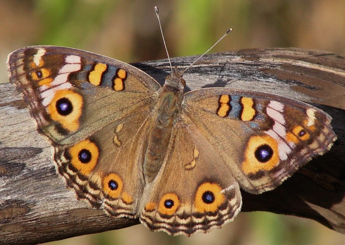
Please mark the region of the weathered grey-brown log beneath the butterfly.
[[[195, 57], [179, 57], [186, 67]], [[166, 60], [134, 64], [161, 84]], [[241, 50], [206, 55], [184, 76], [186, 90], [238, 87], [313, 103], [333, 117], [338, 140], [280, 187], [260, 195], [243, 192], [242, 211], [264, 210], [314, 219], [345, 233], [345, 58], [300, 49]], [[49, 143], [38, 134], [22, 95], [0, 84], [0, 244], [43, 243], [123, 228], [138, 220], [114, 220], [77, 201], [55, 172]]]

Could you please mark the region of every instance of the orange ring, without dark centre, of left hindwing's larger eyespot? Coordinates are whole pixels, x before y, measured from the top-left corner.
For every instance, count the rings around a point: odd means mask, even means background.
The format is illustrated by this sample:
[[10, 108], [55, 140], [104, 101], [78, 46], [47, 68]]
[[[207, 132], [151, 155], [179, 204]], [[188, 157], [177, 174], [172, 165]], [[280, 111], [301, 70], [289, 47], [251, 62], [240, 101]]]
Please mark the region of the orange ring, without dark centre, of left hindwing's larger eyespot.
[[[91, 153], [91, 159], [88, 163], [82, 163], [79, 160], [79, 152], [83, 149], [88, 150]], [[99, 150], [95, 143], [89, 140], [83, 140], [77, 145], [72, 146], [69, 149], [69, 154], [71, 156], [72, 166], [75, 167], [82, 175], [89, 175], [91, 170], [96, 166]]]

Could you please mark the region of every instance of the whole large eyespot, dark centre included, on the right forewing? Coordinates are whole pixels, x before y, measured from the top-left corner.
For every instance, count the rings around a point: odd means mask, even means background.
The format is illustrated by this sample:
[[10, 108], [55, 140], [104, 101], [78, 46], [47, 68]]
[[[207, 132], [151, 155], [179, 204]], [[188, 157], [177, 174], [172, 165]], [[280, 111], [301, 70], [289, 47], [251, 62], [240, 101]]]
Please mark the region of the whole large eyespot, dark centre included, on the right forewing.
[[249, 138], [242, 170], [246, 174], [260, 170], [271, 170], [279, 163], [278, 143], [269, 135], [252, 136]]

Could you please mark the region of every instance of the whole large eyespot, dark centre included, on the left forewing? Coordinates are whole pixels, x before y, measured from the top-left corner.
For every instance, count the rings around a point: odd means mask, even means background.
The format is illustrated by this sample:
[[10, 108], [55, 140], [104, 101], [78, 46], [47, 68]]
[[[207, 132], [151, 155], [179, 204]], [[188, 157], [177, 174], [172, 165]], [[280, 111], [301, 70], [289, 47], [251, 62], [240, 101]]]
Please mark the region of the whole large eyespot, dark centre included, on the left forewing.
[[50, 104], [48, 114], [53, 121], [73, 132], [79, 128], [79, 118], [82, 113], [83, 98], [70, 89], [58, 90]]

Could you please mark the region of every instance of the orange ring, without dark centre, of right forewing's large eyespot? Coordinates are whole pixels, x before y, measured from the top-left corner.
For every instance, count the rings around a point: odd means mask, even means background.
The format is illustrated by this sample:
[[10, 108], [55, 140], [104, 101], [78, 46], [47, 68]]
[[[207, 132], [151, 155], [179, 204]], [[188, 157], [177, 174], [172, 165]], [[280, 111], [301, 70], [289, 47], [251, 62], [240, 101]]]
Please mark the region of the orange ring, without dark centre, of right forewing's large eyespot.
[[[268, 145], [273, 151], [272, 157], [267, 162], [260, 162], [255, 157], [256, 149], [262, 145]], [[242, 162], [242, 170], [246, 174], [255, 174], [260, 170], [271, 170], [279, 163], [277, 141], [269, 135], [250, 137], [244, 154], [245, 160]]]

